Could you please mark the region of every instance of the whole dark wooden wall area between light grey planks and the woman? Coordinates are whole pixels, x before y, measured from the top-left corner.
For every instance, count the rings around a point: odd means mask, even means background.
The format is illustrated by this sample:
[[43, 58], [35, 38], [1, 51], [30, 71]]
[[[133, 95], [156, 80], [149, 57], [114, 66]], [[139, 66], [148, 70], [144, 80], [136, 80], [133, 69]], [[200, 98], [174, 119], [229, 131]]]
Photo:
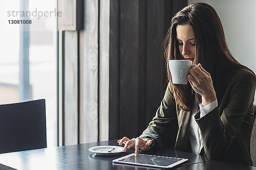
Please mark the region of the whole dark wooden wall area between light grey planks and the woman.
[[161, 45], [174, 9], [186, 3], [110, 3], [109, 138], [132, 138], [147, 127], [163, 98], [166, 68]]

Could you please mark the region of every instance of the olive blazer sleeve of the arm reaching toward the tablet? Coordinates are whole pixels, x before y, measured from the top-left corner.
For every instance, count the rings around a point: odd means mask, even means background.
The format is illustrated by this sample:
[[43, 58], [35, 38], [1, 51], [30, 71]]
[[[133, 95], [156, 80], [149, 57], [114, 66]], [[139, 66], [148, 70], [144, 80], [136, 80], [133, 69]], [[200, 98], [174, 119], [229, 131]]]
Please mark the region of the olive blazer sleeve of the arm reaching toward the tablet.
[[154, 147], [162, 147], [167, 137], [172, 136], [176, 139], [177, 129], [176, 102], [169, 83], [156, 115], [140, 137], [154, 139]]

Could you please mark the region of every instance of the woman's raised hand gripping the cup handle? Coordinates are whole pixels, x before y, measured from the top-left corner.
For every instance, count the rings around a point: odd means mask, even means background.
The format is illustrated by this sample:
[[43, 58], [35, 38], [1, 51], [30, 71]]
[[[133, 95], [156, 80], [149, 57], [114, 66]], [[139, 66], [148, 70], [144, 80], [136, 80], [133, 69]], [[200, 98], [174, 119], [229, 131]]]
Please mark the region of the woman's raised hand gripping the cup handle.
[[194, 91], [202, 96], [202, 106], [206, 106], [216, 99], [211, 75], [204, 70], [201, 64], [191, 68], [187, 78]]

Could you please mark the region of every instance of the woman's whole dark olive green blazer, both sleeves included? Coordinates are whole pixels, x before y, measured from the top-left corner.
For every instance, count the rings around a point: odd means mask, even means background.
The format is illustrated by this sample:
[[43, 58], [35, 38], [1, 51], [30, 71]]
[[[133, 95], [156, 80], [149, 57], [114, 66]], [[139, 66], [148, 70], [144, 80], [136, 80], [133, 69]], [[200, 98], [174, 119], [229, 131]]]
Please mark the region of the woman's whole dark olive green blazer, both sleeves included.
[[[224, 93], [218, 107], [195, 120], [201, 130], [203, 149], [201, 155], [209, 159], [236, 161], [252, 165], [250, 135], [253, 127], [253, 101], [256, 77], [239, 68], [225, 74]], [[168, 84], [160, 107], [140, 137], [154, 139], [154, 147], [171, 147], [192, 151], [189, 143], [191, 112], [177, 107]]]

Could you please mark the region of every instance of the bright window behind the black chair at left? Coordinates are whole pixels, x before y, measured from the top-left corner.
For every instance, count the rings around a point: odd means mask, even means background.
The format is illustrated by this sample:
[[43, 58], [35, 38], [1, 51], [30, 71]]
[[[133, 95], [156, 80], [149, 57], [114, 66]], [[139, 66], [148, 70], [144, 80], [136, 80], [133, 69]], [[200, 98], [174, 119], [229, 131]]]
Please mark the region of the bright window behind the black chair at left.
[[0, 104], [46, 99], [47, 147], [57, 146], [56, 8], [55, 0], [4, 0], [0, 15]]

